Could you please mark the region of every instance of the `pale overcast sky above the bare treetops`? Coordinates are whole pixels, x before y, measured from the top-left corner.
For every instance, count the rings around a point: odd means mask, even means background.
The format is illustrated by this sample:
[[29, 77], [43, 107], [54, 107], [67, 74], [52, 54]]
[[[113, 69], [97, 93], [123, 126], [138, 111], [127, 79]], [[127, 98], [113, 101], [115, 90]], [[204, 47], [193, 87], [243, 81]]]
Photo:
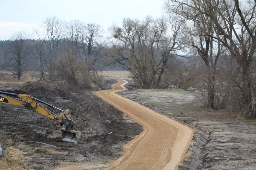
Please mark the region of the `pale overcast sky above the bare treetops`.
[[95, 22], [105, 31], [122, 18], [143, 20], [163, 14], [164, 0], [0, 0], [0, 40], [8, 40], [17, 31], [27, 34], [42, 21], [56, 16], [65, 21]]

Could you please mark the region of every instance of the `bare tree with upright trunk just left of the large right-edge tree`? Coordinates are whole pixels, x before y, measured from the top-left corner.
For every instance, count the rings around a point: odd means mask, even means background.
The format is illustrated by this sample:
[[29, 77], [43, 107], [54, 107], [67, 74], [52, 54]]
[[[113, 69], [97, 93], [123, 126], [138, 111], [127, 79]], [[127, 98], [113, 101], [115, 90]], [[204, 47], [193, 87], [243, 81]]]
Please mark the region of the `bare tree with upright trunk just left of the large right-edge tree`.
[[[200, 2], [197, 4], [190, 1], [190, 3], [194, 8], [200, 8]], [[195, 56], [200, 57], [204, 63], [204, 71], [198, 76], [206, 84], [207, 107], [217, 108], [219, 104], [215, 103], [215, 95], [217, 95], [215, 92], [215, 77], [218, 59], [224, 49], [221, 42], [213, 38], [213, 36], [217, 37], [219, 34], [216, 32], [212, 19], [208, 15], [193, 10], [190, 6], [182, 3], [168, 4], [167, 2], [166, 9], [168, 13], [177, 15], [182, 22], [186, 23], [183, 32], [187, 36], [187, 46], [191, 47], [192, 51], [196, 51], [197, 55]]]

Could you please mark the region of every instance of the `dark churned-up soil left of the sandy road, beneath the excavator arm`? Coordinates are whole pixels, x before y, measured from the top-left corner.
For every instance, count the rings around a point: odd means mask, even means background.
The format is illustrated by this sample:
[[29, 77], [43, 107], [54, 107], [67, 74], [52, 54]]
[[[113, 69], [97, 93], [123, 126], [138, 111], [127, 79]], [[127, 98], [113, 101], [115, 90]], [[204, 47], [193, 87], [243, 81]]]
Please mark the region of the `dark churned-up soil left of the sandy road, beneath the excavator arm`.
[[[114, 80], [107, 81], [111, 88]], [[70, 89], [61, 82], [29, 83], [6, 92], [29, 94], [61, 109], [69, 109], [78, 144], [62, 141], [53, 120], [20, 106], [0, 104], [0, 169], [105, 169], [121, 156], [122, 144], [142, 132], [142, 126], [124, 117], [91, 90]]]

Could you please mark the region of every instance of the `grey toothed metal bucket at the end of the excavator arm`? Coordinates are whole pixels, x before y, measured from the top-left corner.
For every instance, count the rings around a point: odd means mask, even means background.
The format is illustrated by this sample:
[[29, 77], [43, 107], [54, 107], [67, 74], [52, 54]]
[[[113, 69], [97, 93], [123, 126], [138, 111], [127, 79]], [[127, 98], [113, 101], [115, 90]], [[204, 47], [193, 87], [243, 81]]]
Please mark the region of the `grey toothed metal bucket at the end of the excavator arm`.
[[82, 137], [82, 133], [76, 130], [67, 131], [66, 128], [61, 128], [62, 140], [78, 144]]

